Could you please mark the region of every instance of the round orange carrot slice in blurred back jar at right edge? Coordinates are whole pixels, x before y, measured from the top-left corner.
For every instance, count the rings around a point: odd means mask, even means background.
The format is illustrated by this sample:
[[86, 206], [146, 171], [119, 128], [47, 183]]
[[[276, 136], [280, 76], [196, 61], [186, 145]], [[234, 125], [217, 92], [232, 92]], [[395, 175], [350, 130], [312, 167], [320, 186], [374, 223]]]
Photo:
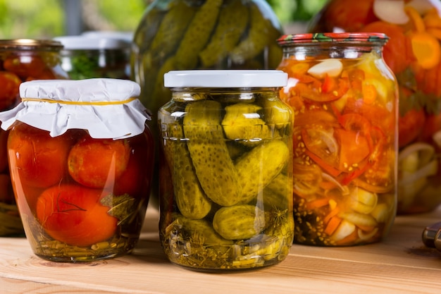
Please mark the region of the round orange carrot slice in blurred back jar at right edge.
[[436, 66], [441, 59], [440, 42], [428, 32], [417, 32], [411, 35], [412, 51], [418, 64], [429, 69]]

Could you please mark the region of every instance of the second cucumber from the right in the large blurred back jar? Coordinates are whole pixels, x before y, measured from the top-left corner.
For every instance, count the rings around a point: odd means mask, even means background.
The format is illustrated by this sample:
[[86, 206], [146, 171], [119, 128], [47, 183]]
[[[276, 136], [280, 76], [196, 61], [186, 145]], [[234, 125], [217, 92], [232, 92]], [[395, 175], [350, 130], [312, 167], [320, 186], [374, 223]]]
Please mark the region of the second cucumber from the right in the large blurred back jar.
[[202, 66], [208, 68], [222, 61], [247, 28], [249, 10], [242, 0], [225, 4], [219, 15], [218, 25], [209, 44], [199, 54]]

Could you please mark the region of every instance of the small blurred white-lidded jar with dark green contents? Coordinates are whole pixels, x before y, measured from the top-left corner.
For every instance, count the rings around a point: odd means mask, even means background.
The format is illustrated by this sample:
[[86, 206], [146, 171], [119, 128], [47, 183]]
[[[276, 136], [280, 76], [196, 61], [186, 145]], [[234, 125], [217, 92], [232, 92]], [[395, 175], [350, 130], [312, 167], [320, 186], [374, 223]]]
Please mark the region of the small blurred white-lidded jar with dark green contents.
[[72, 80], [130, 79], [130, 42], [111, 36], [63, 36], [61, 66]]

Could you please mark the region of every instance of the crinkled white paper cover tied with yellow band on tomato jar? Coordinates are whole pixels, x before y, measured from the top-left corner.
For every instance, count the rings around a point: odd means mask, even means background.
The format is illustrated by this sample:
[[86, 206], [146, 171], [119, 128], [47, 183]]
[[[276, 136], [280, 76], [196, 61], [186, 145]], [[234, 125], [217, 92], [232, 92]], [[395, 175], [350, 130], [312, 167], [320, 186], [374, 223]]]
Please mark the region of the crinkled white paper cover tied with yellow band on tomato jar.
[[88, 130], [94, 138], [119, 139], [139, 135], [147, 109], [137, 99], [140, 87], [130, 80], [33, 80], [20, 85], [22, 102], [0, 112], [1, 128], [22, 121], [52, 137], [69, 129]]

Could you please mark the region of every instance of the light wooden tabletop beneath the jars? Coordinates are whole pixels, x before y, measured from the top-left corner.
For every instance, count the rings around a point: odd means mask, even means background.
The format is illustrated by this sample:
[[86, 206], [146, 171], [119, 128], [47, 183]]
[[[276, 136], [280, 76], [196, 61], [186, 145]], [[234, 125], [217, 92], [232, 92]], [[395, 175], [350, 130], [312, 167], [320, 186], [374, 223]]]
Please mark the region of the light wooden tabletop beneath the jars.
[[383, 243], [293, 245], [273, 267], [209, 274], [168, 262], [158, 212], [148, 209], [135, 252], [104, 262], [48, 262], [32, 254], [25, 238], [0, 238], [0, 293], [440, 293], [441, 252], [421, 242], [423, 228], [437, 221], [441, 209], [399, 216]]

